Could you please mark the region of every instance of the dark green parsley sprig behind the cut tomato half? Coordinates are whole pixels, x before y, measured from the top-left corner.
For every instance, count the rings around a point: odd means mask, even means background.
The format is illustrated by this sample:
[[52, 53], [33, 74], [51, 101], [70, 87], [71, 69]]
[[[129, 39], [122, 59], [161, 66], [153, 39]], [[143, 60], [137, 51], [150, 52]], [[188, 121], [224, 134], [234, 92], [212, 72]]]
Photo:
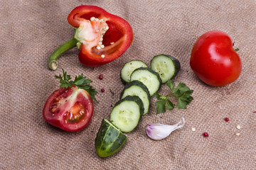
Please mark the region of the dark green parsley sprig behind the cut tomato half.
[[56, 79], [60, 79], [60, 87], [64, 87], [67, 89], [68, 87], [72, 87], [73, 85], [78, 86], [79, 89], [84, 89], [90, 94], [93, 101], [97, 101], [95, 98], [95, 95], [97, 94], [97, 91], [90, 86], [90, 83], [92, 81], [90, 79], [87, 79], [87, 77], [84, 77], [83, 74], [80, 74], [78, 77], [75, 77], [74, 81], [70, 81], [71, 77], [67, 74], [67, 72], [64, 72], [63, 69], [63, 76], [55, 76]]

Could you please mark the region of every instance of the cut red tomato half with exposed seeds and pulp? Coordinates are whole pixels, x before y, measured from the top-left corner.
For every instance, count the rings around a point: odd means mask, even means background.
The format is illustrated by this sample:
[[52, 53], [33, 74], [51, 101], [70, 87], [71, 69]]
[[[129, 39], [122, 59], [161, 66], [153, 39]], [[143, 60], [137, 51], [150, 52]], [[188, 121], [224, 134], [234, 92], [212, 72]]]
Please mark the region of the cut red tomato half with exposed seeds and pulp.
[[43, 107], [43, 118], [50, 125], [69, 132], [85, 128], [92, 114], [93, 101], [90, 94], [77, 86], [55, 90]]

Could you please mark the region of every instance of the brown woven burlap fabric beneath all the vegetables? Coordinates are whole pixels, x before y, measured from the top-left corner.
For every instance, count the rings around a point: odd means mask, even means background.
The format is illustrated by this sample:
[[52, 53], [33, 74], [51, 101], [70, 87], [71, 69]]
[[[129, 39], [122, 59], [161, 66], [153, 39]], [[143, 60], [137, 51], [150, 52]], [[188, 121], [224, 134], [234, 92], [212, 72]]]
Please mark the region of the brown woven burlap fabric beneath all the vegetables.
[[[256, 169], [254, 0], [2, 0], [0, 4], [0, 169]], [[82, 66], [78, 50], [73, 49], [60, 57], [58, 70], [50, 71], [48, 57], [73, 37], [67, 16], [81, 4], [100, 6], [129, 21], [134, 43], [118, 60], [97, 68]], [[242, 74], [228, 86], [207, 86], [189, 67], [193, 43], [209, 30], [225, 31], [240, 48]], [[180, 60], [181, 72], [175, 82], [194, 89], [194, 101], [186, 110], [156, 115], [156, 99], [151, 98], [149, 114], [127, 134], [129, 140], [122, 150], [100, 159], [94, 140], [102, 118], [110, 118], [111, 106], [123, 89], [120, 69], [132, 59], [149, 64], [161, 53]], [[61, 68], [73, 77], [87, 75], [97, 91], [105, 88], [105, 93], [97, 94], [99, 102], [90, 125], [80, 132], [59, 130], [42, 117], [46, 98], [58, 89], [54, 75], [61, 74]], [[162, 86], [161, 92], [166, 90]], [[146, 136], [147, 123], [174, 124], [182, 117], [184, 128], [165, 140]], [[203, 132], [210, 136], [202, 137]]]

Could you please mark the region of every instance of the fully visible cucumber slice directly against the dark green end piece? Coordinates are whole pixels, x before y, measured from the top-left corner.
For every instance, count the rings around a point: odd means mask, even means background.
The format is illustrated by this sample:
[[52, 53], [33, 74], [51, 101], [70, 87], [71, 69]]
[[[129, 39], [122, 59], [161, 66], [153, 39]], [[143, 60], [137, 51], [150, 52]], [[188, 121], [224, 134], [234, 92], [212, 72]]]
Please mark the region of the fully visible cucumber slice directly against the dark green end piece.
[[114, 105], [110, 122], [122, 132], [131, 132], [139, 124], [143, 113], [142, 100], [138, 96], [126, 96]]

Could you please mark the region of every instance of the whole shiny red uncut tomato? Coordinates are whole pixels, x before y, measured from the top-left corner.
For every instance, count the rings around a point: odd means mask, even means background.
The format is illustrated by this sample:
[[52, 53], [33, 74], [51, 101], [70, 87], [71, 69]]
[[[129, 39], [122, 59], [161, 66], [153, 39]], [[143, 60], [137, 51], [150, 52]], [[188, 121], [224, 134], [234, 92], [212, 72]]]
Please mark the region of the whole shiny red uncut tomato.
[[225, 86], [240, 76], [242, 62], [227, 33], [220, 30], [201, 35], [193, 45], [191, 69], [210, 86]]

